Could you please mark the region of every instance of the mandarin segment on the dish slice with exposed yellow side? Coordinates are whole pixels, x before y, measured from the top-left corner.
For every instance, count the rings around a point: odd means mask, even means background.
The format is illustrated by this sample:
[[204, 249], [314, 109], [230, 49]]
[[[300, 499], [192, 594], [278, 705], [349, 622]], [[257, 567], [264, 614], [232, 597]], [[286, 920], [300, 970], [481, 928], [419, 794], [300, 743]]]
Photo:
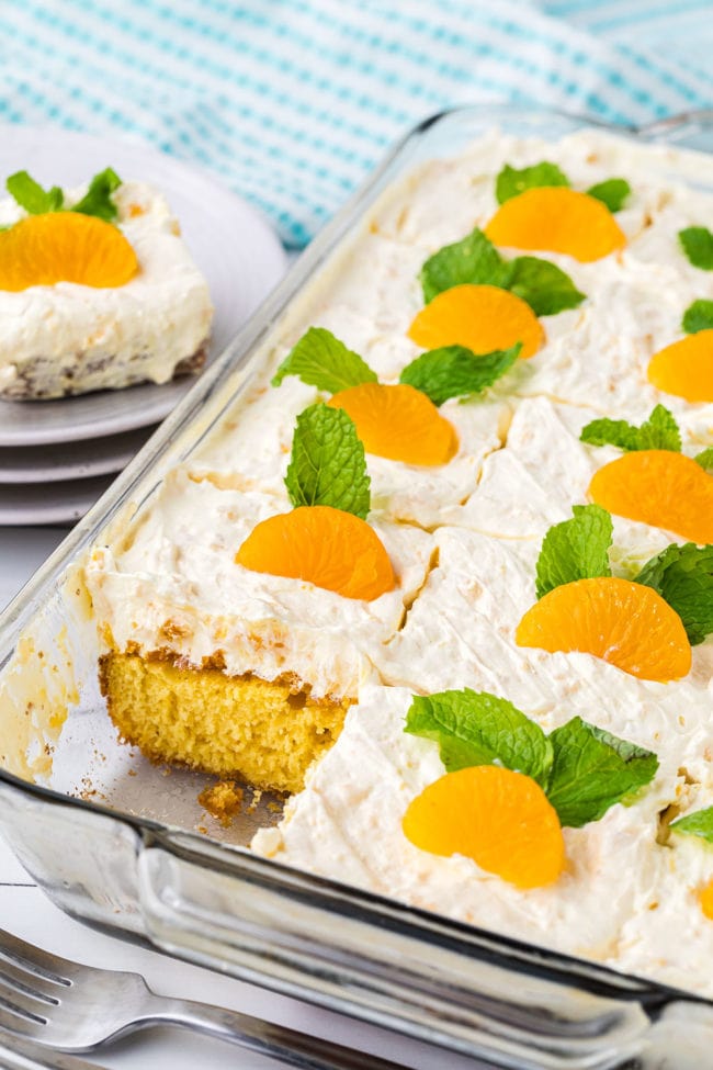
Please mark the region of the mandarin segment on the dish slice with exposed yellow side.
[[396, 586], [388, 554], [374, 529], [328, 505], [303, 505], [262, 520], [235, 560], [253, 572], [305, 579], [344, 598], [372, 601]]

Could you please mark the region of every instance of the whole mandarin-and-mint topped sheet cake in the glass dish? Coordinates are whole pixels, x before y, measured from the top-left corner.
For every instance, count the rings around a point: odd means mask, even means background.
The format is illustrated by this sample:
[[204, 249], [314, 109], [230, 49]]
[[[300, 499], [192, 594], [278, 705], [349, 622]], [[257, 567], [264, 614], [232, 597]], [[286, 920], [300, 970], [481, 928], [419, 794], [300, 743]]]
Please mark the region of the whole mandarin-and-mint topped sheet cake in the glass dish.
[[87, 583], [121, 736], [290, 795], [256, 852], [713, 995], [710, 166], [423, 166]]

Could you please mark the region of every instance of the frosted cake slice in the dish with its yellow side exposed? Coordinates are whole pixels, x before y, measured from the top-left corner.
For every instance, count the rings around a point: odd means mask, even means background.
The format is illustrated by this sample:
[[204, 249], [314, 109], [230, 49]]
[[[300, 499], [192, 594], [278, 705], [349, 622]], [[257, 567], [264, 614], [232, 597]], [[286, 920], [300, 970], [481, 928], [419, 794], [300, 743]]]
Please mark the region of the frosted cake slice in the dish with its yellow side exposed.
[[[360, 482], [367, 508], [356, 465], [349, 489]], [[102, 690], [121, 735], [147, 756], [298, 790], [398, 631], [432, 537], [290, 506], [284, 485], [261, 494], [177, 470], [118, 544], [92, 552]]]

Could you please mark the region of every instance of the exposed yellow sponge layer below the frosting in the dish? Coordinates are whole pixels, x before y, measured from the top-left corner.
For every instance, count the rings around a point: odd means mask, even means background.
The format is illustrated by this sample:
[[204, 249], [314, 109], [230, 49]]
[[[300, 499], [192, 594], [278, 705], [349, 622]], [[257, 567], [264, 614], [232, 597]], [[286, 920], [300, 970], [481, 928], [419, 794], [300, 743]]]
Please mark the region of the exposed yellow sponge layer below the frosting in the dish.
[[102, 694], [120, 734], [154, 762], [178, 762], [258, 788], [301, 791], [335, 743], [351, 700], [312, 699], [290, 683], [110, 653]]

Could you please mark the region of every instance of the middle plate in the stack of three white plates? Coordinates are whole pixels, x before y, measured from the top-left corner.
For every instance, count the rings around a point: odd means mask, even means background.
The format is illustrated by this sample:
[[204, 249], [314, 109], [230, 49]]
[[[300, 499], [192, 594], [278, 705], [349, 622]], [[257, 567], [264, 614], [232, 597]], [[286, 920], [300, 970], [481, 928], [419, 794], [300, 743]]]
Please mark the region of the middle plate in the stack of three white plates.
[[107, 438], [59, 442], [52, 450], [46, 446], [0, 447], [0, 492], [8, 483], [56, 483], [121, 472], [152, 431], [152, 427], [142, 427]]

